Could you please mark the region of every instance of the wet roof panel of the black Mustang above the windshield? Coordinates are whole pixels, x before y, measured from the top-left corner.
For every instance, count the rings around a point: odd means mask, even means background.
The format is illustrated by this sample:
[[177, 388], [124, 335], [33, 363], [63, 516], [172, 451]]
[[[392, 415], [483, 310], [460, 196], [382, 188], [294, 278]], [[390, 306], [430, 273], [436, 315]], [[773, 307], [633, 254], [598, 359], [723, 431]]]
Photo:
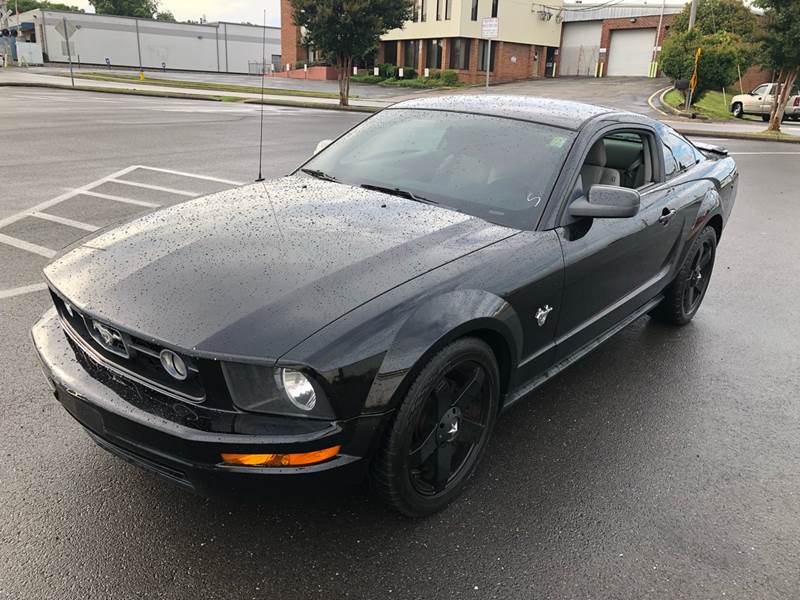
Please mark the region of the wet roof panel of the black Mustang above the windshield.
[[484, 96], [482, 94], [417, 98], [398, 102], [390, 108], [467, 112], [533, 121], [576, 131], [592, 117], [620, 112], [603, 106], [570, 100], [535, 96]]

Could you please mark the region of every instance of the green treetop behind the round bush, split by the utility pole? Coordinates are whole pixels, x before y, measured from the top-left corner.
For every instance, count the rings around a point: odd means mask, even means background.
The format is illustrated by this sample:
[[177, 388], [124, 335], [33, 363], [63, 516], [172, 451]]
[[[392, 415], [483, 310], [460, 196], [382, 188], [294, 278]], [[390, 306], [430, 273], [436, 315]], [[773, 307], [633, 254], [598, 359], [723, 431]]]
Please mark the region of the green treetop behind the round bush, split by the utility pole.
[[[670, 31], [688, 31], [690, 11], [691, 3], [688, 3], [675, 17]], [[702, 35], [735, 33], [747, 42], [755, 42], [762, 25], [759, 17], [742, 0], [698, 0], [695, 29]]]

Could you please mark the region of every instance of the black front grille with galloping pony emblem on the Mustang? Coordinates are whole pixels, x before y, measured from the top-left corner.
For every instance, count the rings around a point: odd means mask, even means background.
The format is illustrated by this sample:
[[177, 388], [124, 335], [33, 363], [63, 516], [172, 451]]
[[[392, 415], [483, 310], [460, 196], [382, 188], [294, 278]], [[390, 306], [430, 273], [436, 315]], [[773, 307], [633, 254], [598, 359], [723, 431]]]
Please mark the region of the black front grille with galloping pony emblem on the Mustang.
[[[188, 376], [180, 381], [170, 376], [161, 364], [163, 347], [83, 314], [51, 290], [53, 302], [68, 337], [83, 346], [87, 354], [120, 374], [138, 381], [162, 394], [193, 403], [206, 400], [206, 389], [217, 388], [221, 380], [219, 365], [214, 361], [195, 361], [182, 356]], [[207, 385], [210, 381], [210, 385]]]

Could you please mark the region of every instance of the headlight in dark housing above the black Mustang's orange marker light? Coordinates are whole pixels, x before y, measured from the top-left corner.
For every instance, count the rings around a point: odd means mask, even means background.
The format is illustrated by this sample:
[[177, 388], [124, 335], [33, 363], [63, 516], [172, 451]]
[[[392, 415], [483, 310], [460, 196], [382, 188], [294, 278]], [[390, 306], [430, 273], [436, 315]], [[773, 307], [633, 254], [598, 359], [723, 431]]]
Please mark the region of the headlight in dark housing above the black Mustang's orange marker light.
[[321, 386], [296, 369], [222, 363], [233, 403], [242, 410], [271, 415], [334, 419]]

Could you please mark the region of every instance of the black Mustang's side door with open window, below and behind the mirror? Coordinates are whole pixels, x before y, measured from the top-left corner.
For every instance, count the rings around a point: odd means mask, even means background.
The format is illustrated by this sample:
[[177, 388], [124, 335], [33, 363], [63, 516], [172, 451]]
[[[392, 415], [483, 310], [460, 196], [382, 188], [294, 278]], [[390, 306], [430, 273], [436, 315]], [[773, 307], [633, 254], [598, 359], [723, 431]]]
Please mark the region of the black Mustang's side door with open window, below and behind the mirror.
[[634, 217], [577, 222], [562, 217], [557, 233], [565, 270], [557, 360], [590, 344], [660, 292], [681, 235], [676, 200], [663, 175], [660, 139], [654, 130], [637, 126], [616, 130], [637, 132], [648, 140], [651, 177], [638, 189], [641, 207]]

